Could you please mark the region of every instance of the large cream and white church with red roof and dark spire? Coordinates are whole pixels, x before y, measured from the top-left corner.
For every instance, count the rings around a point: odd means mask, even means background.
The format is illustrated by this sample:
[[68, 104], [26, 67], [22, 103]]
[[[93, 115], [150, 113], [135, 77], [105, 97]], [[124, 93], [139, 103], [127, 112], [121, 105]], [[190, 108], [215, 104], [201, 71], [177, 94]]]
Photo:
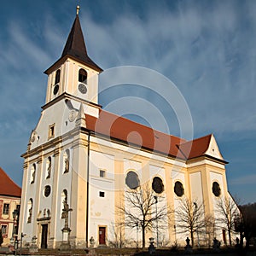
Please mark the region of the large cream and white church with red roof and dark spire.
[[[87, 53], [78, 9], [60, 59], [44, 72], [45, 104], [22, 154], [24, 243], [37, 237], [41, 248], [59, 248], [63, 241], [72, 248], [109, 246], [115, 224], [126, 221], [118, 212], [128, 207], [125, 194], [143, 183], [174, 209], [164, 231], [152, 225], [147, 244], [151, 236], [183, 243], [189, 235], [178, 232], [175, 212], [188, 198], [195, 207], [203, 202], [203, 216], [216, 217], [218, 200], [230, 198], [227, 162], [212, 134], [187, 141], [105, 111], [98, 102], [102, 72]], [[125, 246], [142, 241], [138, 227], [123, 225], [121, 233]], [[216, 228], [213, 236], [223, 242], [224, 230]]]

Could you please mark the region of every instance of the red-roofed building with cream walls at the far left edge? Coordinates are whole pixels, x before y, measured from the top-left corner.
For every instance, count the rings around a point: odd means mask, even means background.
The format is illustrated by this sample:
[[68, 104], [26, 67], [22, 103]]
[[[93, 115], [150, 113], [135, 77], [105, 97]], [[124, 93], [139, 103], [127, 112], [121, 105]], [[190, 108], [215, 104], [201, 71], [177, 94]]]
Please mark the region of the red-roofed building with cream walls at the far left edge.
[[18, 234], [21, 189], [0, 167], [0, 228], [3, 246]]

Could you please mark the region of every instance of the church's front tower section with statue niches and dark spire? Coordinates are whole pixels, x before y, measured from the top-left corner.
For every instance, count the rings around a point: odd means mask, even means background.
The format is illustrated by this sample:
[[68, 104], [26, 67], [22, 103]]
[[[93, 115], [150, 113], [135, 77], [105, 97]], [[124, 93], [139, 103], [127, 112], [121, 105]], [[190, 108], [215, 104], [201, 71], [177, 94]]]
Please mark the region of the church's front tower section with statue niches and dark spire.
[[37, 236], [38, 247], [60, 247], [64, 200], [73, 208], [70, 242], [73, 247], [85, 247], [88, 241], [85, 212], [90, 133], [86, 117], [99, 116], [101, 72], [87, 54], [78, 7], [61, 57], [44, 72], [48, 75], [45, 104], [22, 154], [20, 230], [27, 234], [26, 241]]

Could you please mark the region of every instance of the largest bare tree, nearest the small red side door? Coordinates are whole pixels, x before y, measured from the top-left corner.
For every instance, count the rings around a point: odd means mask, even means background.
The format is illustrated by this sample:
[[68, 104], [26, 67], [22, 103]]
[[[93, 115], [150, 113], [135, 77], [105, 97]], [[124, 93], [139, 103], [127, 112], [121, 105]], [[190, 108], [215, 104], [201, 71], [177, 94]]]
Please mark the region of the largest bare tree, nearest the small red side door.
[[159, 229], [168, 225], [170, 211], [166, 207], [165, 199], [157, 196], [156, 201], [153, 189], [147, 184], [125, 191], [125, 205], [118, 208], [119, 212], [125, 215], [126, 227], [142, 230], [143, 248], [146, 232], [152, 230], [154, 224], [157, 223]]

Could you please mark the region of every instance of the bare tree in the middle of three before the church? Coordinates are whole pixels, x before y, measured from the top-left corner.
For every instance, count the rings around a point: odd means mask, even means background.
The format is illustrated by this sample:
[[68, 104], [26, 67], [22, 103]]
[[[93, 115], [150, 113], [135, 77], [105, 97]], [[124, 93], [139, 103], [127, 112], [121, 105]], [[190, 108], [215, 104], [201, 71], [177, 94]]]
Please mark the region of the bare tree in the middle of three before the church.
[[[211, 217], [204, 214], [204, 204], [200, 201], [191, 201], [184, 198], [180, 201], [175, 212], [175, 225], [177, 233], [189, 233], [192, 247], [195, 246], [195, 234], [206, 232], [207, 227], [212, 225]], [[197, 237], [199, 242], [199, 237]]]

